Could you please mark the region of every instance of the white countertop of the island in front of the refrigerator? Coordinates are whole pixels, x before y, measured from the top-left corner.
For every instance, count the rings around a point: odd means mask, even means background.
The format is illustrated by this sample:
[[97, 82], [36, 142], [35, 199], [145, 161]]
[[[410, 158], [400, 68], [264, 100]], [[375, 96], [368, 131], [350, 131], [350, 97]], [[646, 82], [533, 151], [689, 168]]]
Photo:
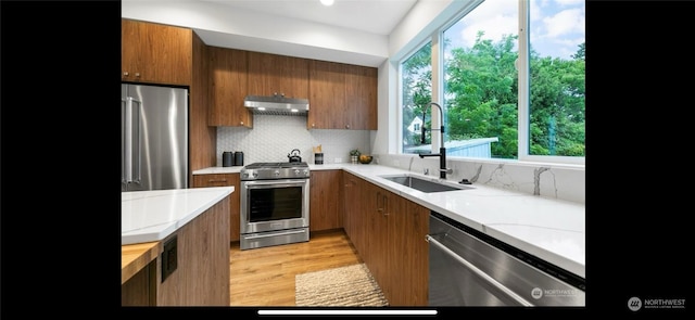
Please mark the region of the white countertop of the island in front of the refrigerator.
[[121, 193], [121, 244], [160, 241], [235, 191], [233, 187]]

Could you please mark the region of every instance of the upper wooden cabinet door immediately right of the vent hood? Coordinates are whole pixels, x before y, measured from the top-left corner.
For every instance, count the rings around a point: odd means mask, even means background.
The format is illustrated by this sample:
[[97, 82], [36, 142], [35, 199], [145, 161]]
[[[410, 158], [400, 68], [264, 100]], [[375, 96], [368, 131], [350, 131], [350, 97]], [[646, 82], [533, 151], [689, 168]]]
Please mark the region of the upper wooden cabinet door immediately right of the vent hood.
[[314, 60], [308, 75], [308, 129], [345, 129], [345, 65]]

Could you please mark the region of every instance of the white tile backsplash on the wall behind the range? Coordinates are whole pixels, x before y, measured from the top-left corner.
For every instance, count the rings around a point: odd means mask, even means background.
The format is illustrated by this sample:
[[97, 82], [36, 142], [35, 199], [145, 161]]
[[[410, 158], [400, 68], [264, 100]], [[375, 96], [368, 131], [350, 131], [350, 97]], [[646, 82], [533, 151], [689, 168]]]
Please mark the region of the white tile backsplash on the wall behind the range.
[[217, 166], [225, 151], [242, 151], [244, 165], [287, 162], [287, 155], [300, 150], [303, 162], [314, 163], [313, 146], [321, 145], [324, 164], [350, 162], [350, 151], [370, 153], [369, 130], [306, 129], [305, 116], [253, 115], [253, 129], [217, 128]]

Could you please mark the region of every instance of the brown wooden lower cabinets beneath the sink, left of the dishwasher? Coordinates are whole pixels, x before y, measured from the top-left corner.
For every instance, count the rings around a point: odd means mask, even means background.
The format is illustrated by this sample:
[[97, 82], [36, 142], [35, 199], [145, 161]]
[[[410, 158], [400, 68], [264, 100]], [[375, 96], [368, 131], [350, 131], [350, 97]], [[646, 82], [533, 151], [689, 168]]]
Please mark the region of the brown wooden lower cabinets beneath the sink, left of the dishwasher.
[[343, 172], [345, 233], [390, 306], [429, 303], [430, 210]]

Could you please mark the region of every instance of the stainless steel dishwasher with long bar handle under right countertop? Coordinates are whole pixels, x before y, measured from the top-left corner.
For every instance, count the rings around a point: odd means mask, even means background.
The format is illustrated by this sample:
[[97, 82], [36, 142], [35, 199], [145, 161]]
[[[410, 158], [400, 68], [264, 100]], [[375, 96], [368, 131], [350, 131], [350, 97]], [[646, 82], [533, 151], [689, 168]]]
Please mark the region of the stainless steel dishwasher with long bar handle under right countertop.
[[584, 279], [430, 214], [430, 306], [585, 306]]

